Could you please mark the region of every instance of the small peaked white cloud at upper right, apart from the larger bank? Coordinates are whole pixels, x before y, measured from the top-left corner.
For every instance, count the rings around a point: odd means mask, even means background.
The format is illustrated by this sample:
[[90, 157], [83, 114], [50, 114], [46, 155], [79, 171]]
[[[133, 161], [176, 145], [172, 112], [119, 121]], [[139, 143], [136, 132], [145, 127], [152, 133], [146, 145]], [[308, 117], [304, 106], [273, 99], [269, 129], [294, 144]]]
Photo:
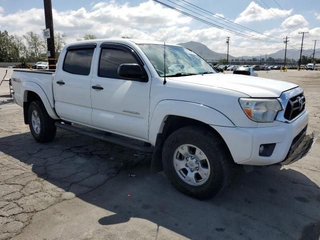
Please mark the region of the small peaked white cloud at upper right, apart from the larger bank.
[[[240, 13], [240, 15], [234, 20], [236, 23], [240, 22], [249, 22], [249, 21], [262, 21], [267, 19], [275, 18], [274, 15], [284, 17], [287, 14], [290, 14], [290, 10], [282, 10], [279, 8], [269, 8], [265, 9], [260, 5], [256, 4], [254, 1], [251, 1], [250, 4]], [[271, 12], [271, 13], [270, 13]]]

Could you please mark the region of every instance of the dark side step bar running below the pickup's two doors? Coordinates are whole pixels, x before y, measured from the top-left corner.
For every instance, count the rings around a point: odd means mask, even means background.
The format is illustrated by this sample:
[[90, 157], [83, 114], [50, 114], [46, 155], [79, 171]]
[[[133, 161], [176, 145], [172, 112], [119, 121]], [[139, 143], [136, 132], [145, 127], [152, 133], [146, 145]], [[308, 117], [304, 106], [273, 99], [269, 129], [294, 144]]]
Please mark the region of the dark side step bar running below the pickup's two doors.
[[86, 136], [91, 136], [91, 137], [100, 139], [102, 141], [107, 141], [107, 142], [111, 142], [114, 144], [118, 144], [120, 146], [129, 147], [129, 148], [132, 148], [132, 149], [135, 149], [138, 151], [150, 152], [150, 153], [153, 152], [153, 146], [142, 146], [139, 144], [135, 144], [133, 142], [131, 143], [130, 140], [126, 141], [126, 140], [123, 140], [123, 139], [118, 138], [116, 136], [109, 136], [109, 135], [105, 135], [105, 134], [101, 134], [101, 133], [99, 134], [99, 133], [91, 132], [91, 131], [82, 129], [80, 127], [75, 127], [75, 126], [64, 124], [64, 123], [61, 123], [58, 121], [55, 122], [55, 125], [57, 127], [65, 129], [65, 130], [74, 131], [76, 133], [80, 133], [80, 134], [83, 134]]

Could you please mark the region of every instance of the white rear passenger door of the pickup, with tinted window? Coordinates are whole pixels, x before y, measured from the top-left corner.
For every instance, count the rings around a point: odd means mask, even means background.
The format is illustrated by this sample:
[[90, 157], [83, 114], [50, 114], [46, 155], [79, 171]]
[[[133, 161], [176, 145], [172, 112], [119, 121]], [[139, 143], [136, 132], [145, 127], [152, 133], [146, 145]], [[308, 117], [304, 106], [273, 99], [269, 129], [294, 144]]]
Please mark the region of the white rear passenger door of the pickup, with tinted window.
[[95, 43], [70, 45], [54, 78], [55, 110], [65, 120], [91, 125], [91, 76]]

